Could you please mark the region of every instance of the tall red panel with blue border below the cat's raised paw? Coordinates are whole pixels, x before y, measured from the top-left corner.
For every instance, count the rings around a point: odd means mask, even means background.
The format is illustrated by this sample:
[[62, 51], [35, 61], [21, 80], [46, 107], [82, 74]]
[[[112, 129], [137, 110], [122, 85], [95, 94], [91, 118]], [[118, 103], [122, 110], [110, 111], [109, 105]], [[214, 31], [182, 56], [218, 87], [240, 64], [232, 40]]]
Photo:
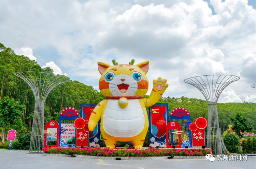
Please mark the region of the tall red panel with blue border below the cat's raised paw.
[[166, 125], [168, 121], [168, 103], [156, 103], [149, 107], [150, 147], [166, 147]]

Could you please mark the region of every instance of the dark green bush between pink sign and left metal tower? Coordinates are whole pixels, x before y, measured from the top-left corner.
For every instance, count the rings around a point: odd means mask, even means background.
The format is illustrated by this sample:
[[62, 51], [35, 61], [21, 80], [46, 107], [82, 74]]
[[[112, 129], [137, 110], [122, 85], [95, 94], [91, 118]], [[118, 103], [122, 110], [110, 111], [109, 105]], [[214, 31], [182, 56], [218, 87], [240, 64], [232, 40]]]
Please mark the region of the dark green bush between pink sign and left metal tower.
[[24, 134], [21, 133], [18, 136], [18, 142], [13, 143], [14, 149], [29, 150], [31, 132]]

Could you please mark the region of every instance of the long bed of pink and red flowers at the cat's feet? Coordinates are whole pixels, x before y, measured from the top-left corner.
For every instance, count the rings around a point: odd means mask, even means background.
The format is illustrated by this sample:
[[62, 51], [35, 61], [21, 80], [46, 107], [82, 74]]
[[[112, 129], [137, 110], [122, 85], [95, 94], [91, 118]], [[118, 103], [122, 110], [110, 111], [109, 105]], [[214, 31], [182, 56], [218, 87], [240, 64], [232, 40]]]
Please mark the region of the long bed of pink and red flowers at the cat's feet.
[[205, 156], [210, 154], [210, 149], [109, 149], [100, 147], [85, 148], [43, 148], [46, 154], [78, 154], [109, 157], [157, 157], [157, 156]]

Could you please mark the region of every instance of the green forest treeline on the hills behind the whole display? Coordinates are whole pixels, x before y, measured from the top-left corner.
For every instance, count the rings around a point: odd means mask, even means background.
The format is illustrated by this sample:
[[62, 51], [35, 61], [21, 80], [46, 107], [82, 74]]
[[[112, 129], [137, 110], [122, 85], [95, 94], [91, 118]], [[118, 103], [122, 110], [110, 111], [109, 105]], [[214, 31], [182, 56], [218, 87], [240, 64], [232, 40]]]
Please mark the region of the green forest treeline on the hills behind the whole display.
[[[25, 105], [21, 119], [23, 128], [31, 130], [33, 113], [34, 113], [34, 94], [28, 84], [21, 78], [14, 75], [15, 72], [44, 72], [53, 74], [53, 70], [49, 67], [42, 69], [40, 65], [23, 55], [16, 55], [15, 52], [6, 48], [0, 43], [0, 100], [9, 96], [20, 104]], [[144, 96], [147, 98], [148, 96]], [[104, 97], [100, 92], [94, 90], [92, 86], [87, 86], [79, 81], [62, 83], [55, 87], [45, 100], [45, 123], [49, 120], [59, 119], [59, 113], [66, 107], [74, 107], [80, 112], [82, 103], [99, 103]], [[158, 102], [168, 103], [169, 114], [176, 107], [184, 107], [190, 112], [191, 121], [199, 116], [207, 119], [208, 105], [205, 100], [196, 98], [162, 97]], [[247, 123], [254, 126], [255, 132], [255, 103], [225, 103], [217, 104], [219, 126], [221, 131], [228, 129], [228, 125], [232, 124], [230, 117], [235, 116], [238, 112], [245, 115]], [[0, 124], [0, 127], [2, 124]]]

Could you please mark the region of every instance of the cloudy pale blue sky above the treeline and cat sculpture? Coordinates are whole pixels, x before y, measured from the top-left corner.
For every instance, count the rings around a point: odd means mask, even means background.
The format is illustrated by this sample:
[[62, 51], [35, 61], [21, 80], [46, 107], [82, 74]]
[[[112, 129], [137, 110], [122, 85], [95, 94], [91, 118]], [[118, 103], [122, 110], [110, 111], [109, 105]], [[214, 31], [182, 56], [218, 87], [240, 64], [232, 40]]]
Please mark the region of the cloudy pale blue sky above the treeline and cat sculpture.
[[[204, 99], [184, 79], [236, 75], [218, 102], [255, 102], [255, 1], [0, 0], [0, 42], [98, 90], [97, 62], [149, 60], [164, 97]], [[149, 94], [149, 93], [147, 93]]]

